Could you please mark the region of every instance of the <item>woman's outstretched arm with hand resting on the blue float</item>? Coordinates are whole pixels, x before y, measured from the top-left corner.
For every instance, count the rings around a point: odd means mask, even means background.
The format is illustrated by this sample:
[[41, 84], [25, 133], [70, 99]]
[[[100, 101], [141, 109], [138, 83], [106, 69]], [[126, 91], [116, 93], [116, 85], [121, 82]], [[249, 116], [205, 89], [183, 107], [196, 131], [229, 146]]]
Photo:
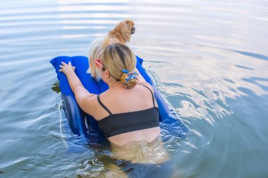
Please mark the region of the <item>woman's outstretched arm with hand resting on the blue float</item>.
[[78, 76], [75, 74], [75, 67], [71, 65], [71, 62], [68, 64], [64, 62], [61, 63], [62, 65], [59, 65], [61, 68], [59, 71], [66, 75], [78, 105], [85, 111], [85, 113], [90, 114], [90, 108], [92, 108], [90, 105], [92, 105], [95, 94], [90, 94], [90, 92], [85, 89]]

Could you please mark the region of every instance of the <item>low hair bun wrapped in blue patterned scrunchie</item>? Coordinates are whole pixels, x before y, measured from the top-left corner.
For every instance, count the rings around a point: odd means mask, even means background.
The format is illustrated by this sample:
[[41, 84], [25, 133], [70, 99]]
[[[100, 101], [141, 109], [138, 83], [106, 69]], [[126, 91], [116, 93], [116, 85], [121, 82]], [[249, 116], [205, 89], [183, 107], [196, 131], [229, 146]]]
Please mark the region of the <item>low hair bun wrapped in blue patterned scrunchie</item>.
[[138, 82], [137, 75], [138, 73], [134, 70], [128, 71], [125, 69], [122, 69], [123, 75], [120, 78], [120, 82], [127, 88], [132, 89], [136, 86]]

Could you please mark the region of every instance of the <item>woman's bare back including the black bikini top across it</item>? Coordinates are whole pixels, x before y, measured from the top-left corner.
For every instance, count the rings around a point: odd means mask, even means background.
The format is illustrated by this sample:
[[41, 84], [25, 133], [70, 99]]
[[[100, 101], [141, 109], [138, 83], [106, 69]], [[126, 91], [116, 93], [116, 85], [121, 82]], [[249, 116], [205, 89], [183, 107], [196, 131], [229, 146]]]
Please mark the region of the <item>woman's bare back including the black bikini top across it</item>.
[[159, 113], [150, 86], [126, 89], [117, 84], [98, 96], [96, 103], [93, 116], [112, 144], [151, 142], [159, 135]]

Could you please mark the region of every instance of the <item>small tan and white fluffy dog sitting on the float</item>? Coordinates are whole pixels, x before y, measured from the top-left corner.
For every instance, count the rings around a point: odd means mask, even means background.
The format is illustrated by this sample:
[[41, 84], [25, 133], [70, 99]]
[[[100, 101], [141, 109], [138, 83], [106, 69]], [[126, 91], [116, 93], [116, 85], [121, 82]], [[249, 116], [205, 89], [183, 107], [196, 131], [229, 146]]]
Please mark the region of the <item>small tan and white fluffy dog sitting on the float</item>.
[[103, 49], [109, 44], [121, 43], [126, 44], [130, 41], [131, 34], [135, 32], [134, 22], [133, 20], [123, 20], [111, 30], [104, 39], [95, 39], [90, 44], [89, 56], [88, 60], [90, 63], [90, 69], [87, 72], [90, 72], [91, 76], [95, 78], [95, 80], [99, 81], [100, 70], [95, 65], [95, 59], [98, 59], [102, 55]]

